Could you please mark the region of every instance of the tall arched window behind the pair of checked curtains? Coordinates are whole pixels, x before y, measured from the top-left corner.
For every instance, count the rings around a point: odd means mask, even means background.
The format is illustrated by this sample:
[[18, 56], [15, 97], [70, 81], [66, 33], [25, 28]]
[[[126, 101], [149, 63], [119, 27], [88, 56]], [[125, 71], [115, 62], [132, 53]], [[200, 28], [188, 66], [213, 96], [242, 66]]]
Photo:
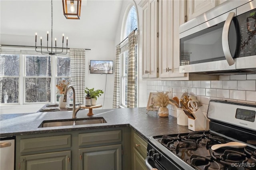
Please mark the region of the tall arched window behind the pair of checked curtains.
[[[130, 6], [128, 12], [125, 14], [125, 20], [123, 24], [123, 34], [122, 34], [122, 40], [124, 40], [123, 43], [120, 44], [121, 46], [121, 69], [120, 69], [120, 75], [121, 75], [121, 81], [120, 81], [120, 90], [121, 90], [121, 100], [120, 104], [122, 107], [127, 107], [127, 91], [128, 91], [128, 35], [134, 31], [136, 28], [138, 28], [138, 22], [137, 22], [137, 11], [135, 6]], [[134, 94], [134, 100], [135, 104], [134, 107], [138, 106], [138, 43], [135, 45], [135, 94]]]

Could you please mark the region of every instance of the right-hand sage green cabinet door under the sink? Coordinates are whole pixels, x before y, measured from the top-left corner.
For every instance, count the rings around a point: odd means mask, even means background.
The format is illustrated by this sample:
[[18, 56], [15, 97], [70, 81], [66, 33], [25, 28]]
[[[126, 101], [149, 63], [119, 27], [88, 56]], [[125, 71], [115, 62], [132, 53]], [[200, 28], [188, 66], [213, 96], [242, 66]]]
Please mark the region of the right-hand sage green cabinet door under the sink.
[[122, 170], [122, 145], [79, 149], [79, 170]]

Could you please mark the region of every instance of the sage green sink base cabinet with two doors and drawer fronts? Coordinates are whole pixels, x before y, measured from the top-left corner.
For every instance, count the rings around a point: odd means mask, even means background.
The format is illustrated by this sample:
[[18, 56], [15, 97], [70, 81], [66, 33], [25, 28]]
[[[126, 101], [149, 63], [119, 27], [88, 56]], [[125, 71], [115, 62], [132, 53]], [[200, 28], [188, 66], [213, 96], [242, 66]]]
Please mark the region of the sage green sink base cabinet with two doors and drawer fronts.
[[16, 136], [16, 170], [131, 170], [130, 127]]

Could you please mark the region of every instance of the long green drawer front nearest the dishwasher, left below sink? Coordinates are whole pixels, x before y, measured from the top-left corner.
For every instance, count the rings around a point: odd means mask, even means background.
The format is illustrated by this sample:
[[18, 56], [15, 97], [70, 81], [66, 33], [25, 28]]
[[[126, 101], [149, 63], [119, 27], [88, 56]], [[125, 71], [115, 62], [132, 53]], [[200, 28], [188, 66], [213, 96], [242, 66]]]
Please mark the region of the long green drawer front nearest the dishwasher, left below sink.
[[41, 138], [28, 138], [20, 140], [20, 152], [34, 152], [71, 147], [71, 135], [48, 136]]

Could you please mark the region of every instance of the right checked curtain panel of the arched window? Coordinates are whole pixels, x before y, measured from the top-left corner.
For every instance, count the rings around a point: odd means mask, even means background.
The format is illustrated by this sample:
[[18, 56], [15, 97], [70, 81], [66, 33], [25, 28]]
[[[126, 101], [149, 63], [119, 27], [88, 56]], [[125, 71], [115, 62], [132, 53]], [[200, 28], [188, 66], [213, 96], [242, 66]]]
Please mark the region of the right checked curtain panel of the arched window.
[[127, 107], [133, 108], [135, 105], [135, 32], [128, 36], [128, 89], [127, 89]]

